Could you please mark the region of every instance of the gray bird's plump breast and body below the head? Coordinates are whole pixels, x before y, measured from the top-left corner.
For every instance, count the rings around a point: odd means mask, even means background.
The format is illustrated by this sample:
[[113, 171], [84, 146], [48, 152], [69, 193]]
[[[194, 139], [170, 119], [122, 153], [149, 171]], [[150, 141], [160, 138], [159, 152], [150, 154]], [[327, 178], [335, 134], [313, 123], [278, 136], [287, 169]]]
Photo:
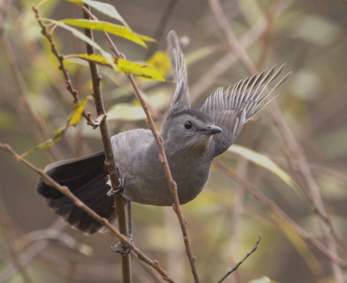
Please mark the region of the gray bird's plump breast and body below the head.
[[[111, 140], [116, 166], [125, 179], [123, 196], [138, 203], [171, 206], [170, 188], [152, 132], [137, 129], [119, 133]], [[188, 160], [184, 154], [166, 154], [180, 203], [193, 200], [209, 179], [211, 163], [200, 158]]]

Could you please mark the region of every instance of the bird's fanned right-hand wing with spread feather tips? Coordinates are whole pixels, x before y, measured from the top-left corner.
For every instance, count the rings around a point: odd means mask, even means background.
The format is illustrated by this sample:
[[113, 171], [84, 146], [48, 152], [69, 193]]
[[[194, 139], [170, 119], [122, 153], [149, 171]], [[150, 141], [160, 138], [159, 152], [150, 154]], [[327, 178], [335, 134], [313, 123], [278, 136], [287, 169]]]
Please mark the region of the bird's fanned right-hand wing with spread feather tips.
[[209, 113], [216, 126], [222, 128], [223, 133], [213, 135], [210, 152], [212, 157], [226, 151], [235, 141], [244, 124], [265, 107], [260, 103], [274, 90], [285, 82], [290, 74], [285, 75], [269, 92], [266, 87], [283, 71], [285, 64], [278, 70], [274, 66], [267, 74], [255, 74], [239, 81], [229, 92], [230, 87], [223, 92], [218, 88], [206, 99], [201, 110]]

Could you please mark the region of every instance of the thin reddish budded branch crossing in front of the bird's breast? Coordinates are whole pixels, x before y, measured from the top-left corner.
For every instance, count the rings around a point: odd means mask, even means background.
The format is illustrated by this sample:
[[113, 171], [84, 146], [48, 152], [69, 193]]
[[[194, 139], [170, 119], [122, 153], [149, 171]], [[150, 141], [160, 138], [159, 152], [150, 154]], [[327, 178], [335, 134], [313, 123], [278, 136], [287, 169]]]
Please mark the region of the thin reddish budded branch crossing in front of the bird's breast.
[[[83, 8], [84, 7], [83, 5], [79, 5], [79, 6], [92, 19], [97, 19], [93, 14], [90, 13], [90, 11], [88, 9]], [[113, 43], [113, 41], [111, 40], [110, 36], [108, 35], [108, 33], [107, 32], [103, 32], [103, 34], [104, 34], [104, 36], [107, 39], [107, 43], [108, 43], [108, 46], [109, 46], [110, 50], [112, 52], [114, 52], [115, 55], [118, 58], [125, 58], [124, 55], [122, 55], [118, 51], [118, 49], [116, 48], [115, 44]], [[172, 208], [176, 212], [178, 220], [179, 220], [179, 223], [180, 223], [180, 226], [181, 226], [181, 230], [182, 230], [182, 233], [183, 233], [183, 239], [184, 239], [184, 243], [185, 243], [185, 246], [186, 246], [186, 252], [187, 252], [187, 255], [188, 255], [188, 258], [189, 258], [189, 262], [191, 264], [192, 273], [193, 273], [193, 276], [194, 276], [195, 283], [199, 283], [200, 282], [200, 278], [199, 278], [199, 275], [198, 275], [198, 272], [197, 272], [197, 267], [196, 267], [196, 263], [195, 263], [195, 256], [193, 255], [192, 247], [191, 247], [191, 244], [190, 244], [190, 241], [189, 241], [186, 220], [183, 217], [183, 214], [182, 214], [182, 211], [181, 211], [181, 207], [179, 205], [177, 184], [172, 179], [172, 175], [171, 175], [171, 172], [170, 172], [169, 164], [168, 164], [168, 161], [167, 161], [167, 158], [166, 158], [163, 139], [159, 135], [158, 131], [155, 128], [155, 124], [154, 124], [154, 121], [152, 119], [151, 113], [150, 113], [150, 111], [148, 109], [147, 102], [143, 98], [143, 96], [141, 94], [141, 91], [139, 90], [133, 75], [132, 74], [128, 74], [128, 73], [125, 73], [125, 74], [129, 78], [131, 84], [133, 85], [133, 88], [135, 90], [137, 98], [139, 99], [139, 101], [140, 101], [140, 103], [142, 105], [142, 108], [145, 111], [145, 114], [146, 114], [146, 117], [147, 117], [147, 125], [150, 127], [150, 129], [151, 129], [151, 131], [152, 131], [152, 133], [154, 135], [154, 139], [155, 139], [156, 143], [158, 144], [158, 148], [159, 148], [159, 152], [160, 152], [159, 159], [160, 159], [160, 161], [163, 164], [165, 176], [166, 176], [166, 178], [168, 180], [169, 187], [170, 187], [171, 194], [172, 194], [172, 198], [173, 198], [173, 201], [174, 201], [174, 203], [172, 204]]]

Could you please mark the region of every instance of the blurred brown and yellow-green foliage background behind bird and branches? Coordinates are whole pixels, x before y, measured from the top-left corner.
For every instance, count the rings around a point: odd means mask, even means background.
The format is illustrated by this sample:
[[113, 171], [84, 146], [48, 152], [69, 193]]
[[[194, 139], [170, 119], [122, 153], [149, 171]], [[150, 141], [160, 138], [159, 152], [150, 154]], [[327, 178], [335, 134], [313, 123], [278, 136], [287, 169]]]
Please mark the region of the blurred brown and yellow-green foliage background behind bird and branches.
[[[134, 31], [152, 37], [169, 4], [156, 0], [109, 2]], [[46, 129], [46, 137], [51, 138], [55, 130], [66, 125], [74, 110], [58, 61], [32, 11], [37, 3], [0, 1], [0, 141], [19, 153], [44, 141], [30, 111]], [[334, 228], [346, 240], [347, 3], [228, 0], [221, 4], [230, 27], [260, 69], [269, 70], [276, 63], [287, 62], [286, 70], [293, 70], [291, 78], [276, 92], [281, 93], [276, 100], [303, 148]], [[233, 59], [207, 1], [176, 1], [171, 12], [154, 49], [165, 51], [166, 34], [176, 30], [188, 63], [193, 108], [200, 108], [217, 87], [234, 85], [247, 73]], [[59, 20], [81, 18], [82, 12], [74, 3], [51, 0], [41, 7], [40, 15]], [[94, 38], [107, 50], [101, 32], [95, 31]], [[148, 50], [153, 50], [151, 44], [145, 49], [122, 38], [112, 39], [130, 61], [144, 63], [149, 58]], [[85, 53], [85, 44], [62, 29], [57, 28], [53, 40], [61, 54]], [[160, 128], [174, 94], [174, 83], [163, 53], [155, 53], [147, 64], [168, 79], [159, 82], [137, 78]], [[92, 91], [87, 63], [70, 59], [66, 67], [83, 100]], [[126, 76], [107, 67], [100, 67], [100, 72], [112, 134], [146, 127]], [[268, 108], [247, 123], [236, 143], [270, 157], [301, 186], [283, 154], [285, 143]], [[95, 119], [92, 100], [85, 109]], [[51, 150], [36, 151], [27, 159], [44, 168], [53, 161], [52, 152], [59, 159], [67, 159], [101, 149], [99, 130], [93, 130], [82, 119], [76, 127], [69, 127]], [[238, 154], [226, 152], [218, 161], [248, 179], [304, 230], [325, 241], [321, 220], [304, 194], [293, 193], [278, 176]], [[67, 227], [35, 193], [34, 172], [5, 153], [0, 154], [0, 164], [2, 218], [14, 231], [9, 241], [16, 239], [20, 260], [27, 263], [25, 268], [33, 282], [121, 282], [119, 257], [110, 249], [116, 238], [109, 233], [87, 237]], [[182, 209], [202, 282], [217, 282], [254, 247], [258, 234], [263, 236], [259, 249], [225, 282], [256, 278], [261, 279], [252, 282], [347, 282], [346, 268], [334, 271], [329, 258], [218, 166], [213, 166], [206, 189]], [[134, 203], [132, 215], [135, 244], [159, 260], [174, 280], [192, 282], [172, 208]], [[2, 223], [0, 282], [23, 282], [12, 264], [4, 227]], [[44, 230], [47, 228], [50, 230]], [[346, 253], [340, 251], [340, 256], [346, 259]], [[132, 264], [134, 282], [153, 282], [135, 257]]]

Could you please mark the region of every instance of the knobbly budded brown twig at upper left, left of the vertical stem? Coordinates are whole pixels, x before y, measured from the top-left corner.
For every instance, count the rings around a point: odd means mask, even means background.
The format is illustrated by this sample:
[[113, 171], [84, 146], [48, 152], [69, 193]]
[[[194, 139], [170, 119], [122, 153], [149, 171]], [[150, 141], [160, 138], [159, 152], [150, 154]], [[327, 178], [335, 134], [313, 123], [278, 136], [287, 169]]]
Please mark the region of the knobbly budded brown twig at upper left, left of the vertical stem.
[[[33, 7], [33, 11], [35, 13], [37, 22], [39, 23], [39, 25], [41, 26], [42, 30], [41, 33], [43, 34], [43, 36], [45, 36], [45, 38], [49, 41], [50, 45], [51, 45], [51, 51], [53, 53], [53, 55], [58, 59], [59, 61], [59, 69], [63, 72], [65, 80], [66, 80], [66, 89], [71, 93], [71, 95], [74, 98], [74, 103], [79, 103], [79, 98], [78, 98], [78, 91], [76, 89], [74, 89], [72, 82], [71, 82], [71, 78], [69, 75], [69, 72], [67, 70], [67, 68], [65, 68], [64, 65], [64, 59], [63, 57], [58, 53], [57, 48], [56, 48], [56, 44], [53, 42], [52, 40], [52, 35], [51, 33], [49, 33], [46, 29], [46, 26], [42, 23], [42, 21], [40, 20], [40, 15], [39, 15], [39, 10], [37, 10], [35, 7]], [[98, 127], [97, 124], [95, 124], [93, 122], [93, 120], [91, 119], [90, 115], [88, 115], [86, 113], [85, 110], [83, 110], [82, 113], [83, 117], [86, 118], [87, 120], [87, 124], [91, 125], [94, 129], [96, 127]]]

